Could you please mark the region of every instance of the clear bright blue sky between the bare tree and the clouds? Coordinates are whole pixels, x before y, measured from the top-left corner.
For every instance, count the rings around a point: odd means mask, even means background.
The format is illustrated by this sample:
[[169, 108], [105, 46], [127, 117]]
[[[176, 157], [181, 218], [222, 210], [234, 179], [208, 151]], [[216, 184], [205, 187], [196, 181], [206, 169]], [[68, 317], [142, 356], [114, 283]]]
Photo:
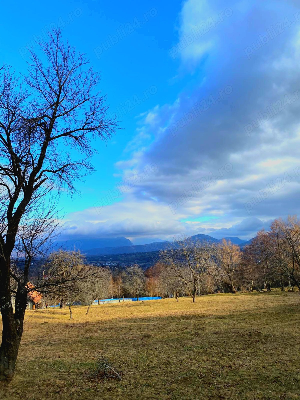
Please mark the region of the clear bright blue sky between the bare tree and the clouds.
[[[100, 88], [108, 95], [111, 112], [116, 112], [120, 103], [125, 103], [126, 110], [134, 107], [124, 116], [118, 116], [122, 130], [112, 138], [107, 148], [102, 143], [96, 144], [99, 154], [94, 157], [93, 164], [97, 173], [87, 177], [84, 184], [78, 184], [83, 193], [81, 198], [73, 204], [66, 196], [61, 199], [66, 211], [87, 208], [118, 182], [113, 176], [118, 172], [114, 164], [135, 135], [136, 116], [159, 102], [172, 101], [180, 90], [182, 82], [168, 82], [176, 73], [168, 48], [172, 44], [173, 23], [180, 11], [180, 2], [174, 2], [171, 8], [158, 1], [134, 1], [130, 7], [124, 2], [96, 1], [54, 1], [51, 7], [41, 2], [32, 2], [29, 6], [24, 2], [17, 4], [14, 14], [8, 4], [2, 5], [7, 18], [1, 24], [2, 38], [6, 38], [1, 42], [1, 54], [6, 63], [25, 72], [28, 61], [25, 47], [38, 35], [43, 36], [47, 28], [60, 27], [64, 39], [86, 53], [94, 69], [101, 71]], [[146, 14], [149, 10], [152, 10], [153, 17]], [[128, 36], [104, 50], [98, 59], [94, 49], [105, 43], [110, 35], [115, 35], [120, 25], [124, 26]], [[141, 100], [143, 93], [152, 86], [157, 88], [153, 89], [155, 94], [149, 94], [149, 98], [138, 105], [139, 100], [134, 101], [134, 96]]]

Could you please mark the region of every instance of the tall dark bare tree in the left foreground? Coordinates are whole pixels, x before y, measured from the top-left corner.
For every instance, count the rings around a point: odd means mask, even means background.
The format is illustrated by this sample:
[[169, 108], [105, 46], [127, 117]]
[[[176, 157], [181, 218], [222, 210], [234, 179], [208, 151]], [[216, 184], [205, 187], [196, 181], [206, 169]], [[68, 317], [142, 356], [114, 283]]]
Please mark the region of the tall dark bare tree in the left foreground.
[[10, 297], [11, 257], [22, 218], [52, 189], [76, 192], [76, 180], [93, 170], [91, 140], [105, 142], [115, 129], [106, 118], [105, 97], [96, 91], [99, 76], [85, 56], [64, 44], [60, 32], [39, 46], [43, 61], [29, 49], [27, 76], [19, 78], [7, 67], [0, 81], [0, 379], [7, 381], [14, 374], [27, 302], [20, 280], [15, 310]]

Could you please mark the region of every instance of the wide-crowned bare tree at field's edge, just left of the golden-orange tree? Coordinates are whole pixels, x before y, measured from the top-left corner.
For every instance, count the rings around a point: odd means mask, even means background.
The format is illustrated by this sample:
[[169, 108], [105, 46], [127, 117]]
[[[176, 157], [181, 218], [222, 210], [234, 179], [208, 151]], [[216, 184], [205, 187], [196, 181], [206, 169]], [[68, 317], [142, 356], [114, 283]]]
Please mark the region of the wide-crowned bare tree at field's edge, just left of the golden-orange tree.
[[214, 263], [214, 254], [213, 243], [181, 236], [160, 252], [160, 260], [177, 274], [195, 302], [200, 276]]

